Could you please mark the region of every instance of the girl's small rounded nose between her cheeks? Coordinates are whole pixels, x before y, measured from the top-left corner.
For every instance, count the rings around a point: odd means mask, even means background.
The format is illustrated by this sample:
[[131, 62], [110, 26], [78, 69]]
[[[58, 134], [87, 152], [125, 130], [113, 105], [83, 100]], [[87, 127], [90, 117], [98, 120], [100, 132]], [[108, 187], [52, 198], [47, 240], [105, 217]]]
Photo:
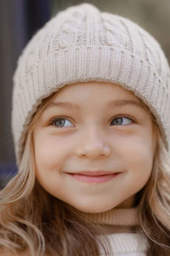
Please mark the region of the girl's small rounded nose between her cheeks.
[[97, 158], [108, 157], [111, 154], [111, 147], [109, 143], [106, 143], [102, 134], [91, 131], [82, 135], [76, 153], [77, 157], [96, 160]]

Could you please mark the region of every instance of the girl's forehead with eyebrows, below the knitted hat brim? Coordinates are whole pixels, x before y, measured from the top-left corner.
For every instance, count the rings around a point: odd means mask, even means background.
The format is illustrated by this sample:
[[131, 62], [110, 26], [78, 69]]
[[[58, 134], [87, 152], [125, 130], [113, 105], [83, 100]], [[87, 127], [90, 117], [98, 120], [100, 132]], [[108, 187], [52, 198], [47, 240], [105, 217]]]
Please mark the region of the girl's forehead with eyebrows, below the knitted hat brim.
[[65, 85], [52, 97], [47, 108], [80, 111], [87, 106], [119, 108], [126, 105], [148, 112], [147, 106], [132, 91], [118, 84], [92, 81]]

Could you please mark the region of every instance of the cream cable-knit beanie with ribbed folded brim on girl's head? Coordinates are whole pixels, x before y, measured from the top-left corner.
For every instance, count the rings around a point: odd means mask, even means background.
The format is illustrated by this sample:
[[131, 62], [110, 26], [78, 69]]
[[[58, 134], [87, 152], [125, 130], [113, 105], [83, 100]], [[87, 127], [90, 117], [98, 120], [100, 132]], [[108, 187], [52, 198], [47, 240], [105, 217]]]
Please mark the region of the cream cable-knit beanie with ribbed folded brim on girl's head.
[[20, 56], [14, 74], [12, 132], [17, 163], [32, 115], [65, 84], [103, 81], [133, 91], [170, 144], [170, 67], [158, 42], [136, 23], [91, 4], [59, 12]]

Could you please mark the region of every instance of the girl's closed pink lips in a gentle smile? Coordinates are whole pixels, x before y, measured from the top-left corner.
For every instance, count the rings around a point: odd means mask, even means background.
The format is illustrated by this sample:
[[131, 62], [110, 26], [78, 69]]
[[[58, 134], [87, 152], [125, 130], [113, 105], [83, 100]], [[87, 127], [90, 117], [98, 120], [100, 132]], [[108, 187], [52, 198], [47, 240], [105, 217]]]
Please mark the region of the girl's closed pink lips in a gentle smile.
[[116, 178], [121, 172], [79, 172], [79, 173], [67, 173], [69, 176], [75, 180], [85, 182], [85, 183], [104, 183]]

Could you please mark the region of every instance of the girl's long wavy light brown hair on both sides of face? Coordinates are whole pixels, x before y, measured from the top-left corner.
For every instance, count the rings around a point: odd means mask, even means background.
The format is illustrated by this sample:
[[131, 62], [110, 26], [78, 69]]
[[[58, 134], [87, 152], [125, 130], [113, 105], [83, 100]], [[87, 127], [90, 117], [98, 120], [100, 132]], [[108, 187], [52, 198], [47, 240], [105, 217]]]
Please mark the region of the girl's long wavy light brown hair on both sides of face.
[[[57, 92], [58, 93], [58, 92]], [[0, 191], [0, 251], [31, 256], [105, 256], [110, 244], [104, 225], [53, 197], [35, 176], [33, 130], [56, 93], [44, 99], [28, 127], [19, 172]], [[156, 138], [153, 170], [136, 195], [138, 221], [147, 236], [147, 256], [170, 255], [170, 154], [152, 116]], [[17, 254], [17, 255], [18, 255]], [[23, 254], [22, 254], [23, 255]]]

